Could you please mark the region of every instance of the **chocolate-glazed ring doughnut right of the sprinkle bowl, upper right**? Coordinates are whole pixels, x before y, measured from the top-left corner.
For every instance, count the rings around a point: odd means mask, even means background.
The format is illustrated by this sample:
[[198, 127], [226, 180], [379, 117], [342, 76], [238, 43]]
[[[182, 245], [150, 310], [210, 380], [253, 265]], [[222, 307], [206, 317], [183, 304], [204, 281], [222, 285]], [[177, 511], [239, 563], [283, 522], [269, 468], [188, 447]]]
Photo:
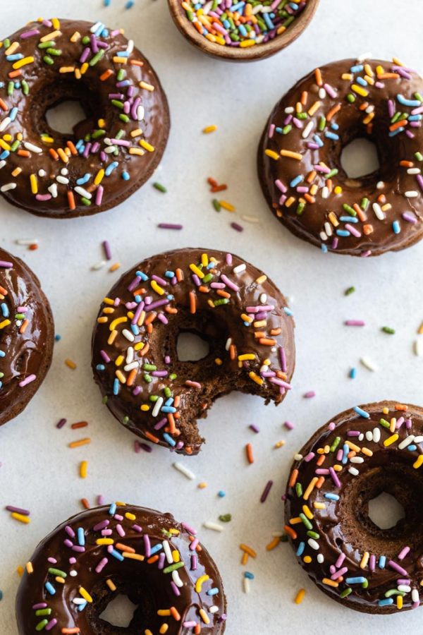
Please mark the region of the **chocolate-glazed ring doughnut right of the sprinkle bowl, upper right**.
[[[343, 79], [344, 73], [350, 73], [350, 68], [354, 66], [369, 65], [362, 71], [351, 73], [351, 79]], [[394, 78], [381, 78], [376, 68], [381, 65], [385, 73], [394, 73]], [[395, 63], [379, 60], [364, 60], [362, 63], [353, 59], [337, 61], [326, 66], [322, 66], [321, 87], [319, 86], [315, 71], [302, 78], [288, 93], [276, 104], [259, 143], [258, 170], [259, 180], [262, 190], [272, 212], [290, 231], [299, 238], [316, 245], [323, 246], [324, 250], [333, 250], [334, 253], [346, 253], [350, 255], [380, 255], [388, 250], [400, 250], [419, 241], [422, 237], [422, 211], [423, 211], [423, 180], [420, 174], [409, 174], [409, 167], [401, 167], [401, 161], [412, 162], [412, 169], [420, 169], [421, 161], [415, 157], [416, 152], [423, 149], [423, 132], [421, 122], [416, 120], [404, 126], [404, 130], [395, 136], [389, 136], [391, 116], [388, 111], [388, 100], [392, 100], [393, 111], [406, 113], [408, 116], [416, 110], [416, 107], [409, 107], [398, 102], [398, 95], [403, 95], [406, 99], [416, 99], [415, 93], [423, 90], [422, 78], [414, 71], [400, 68]], [[371, 81], [374, 85], [360, 85], [360, 78], [366, 76], [367, 71], [374, 73]], [[358, 82], [357, 82], [357, 78]], [[366, 80], [364, 80], [366, 81]], [[359, 90], [368, 92], [368, 95], [358, 95], [352, 90], [352, 85], [358, 86]], [[328, 87], [328, 91], [324, 87]], [[307, 92], [307, 101], [304, 106], [300, 105], [302, 111], [308, 113], [314, 107], [315, 102], [320, 106], [314, 114], [308, 115], [307, 119], [300, 121], [295, 117], [290, 121], [292, 114], [286, 112], [286, 108], [294, 107], [300, 102], [304, 92]], [[331, 96], [333, 95], [333, 96]], [[353, 95], [355, 102], [348, 102], [347, 96]], [[419, 99], [417, 99], [419, 102]], [[363, 111], [364, 103], [368, 104], [367, 111]], [[422, 102], [423, 105], [423, 102]], [[326, 121], [324, 131], [319, 131], [321, 117], [327, 117], [333, 107], [341, 106], [341, 109], [333, 114], [330, 122]], [[369, 111], [369, 109], [371, 111]], [[419, 111], [419, 108], [417, 108]], [[412, 116], [419, 116], [418, 113]], [[364, 123], [365, 121], [365, 123]], [[288, 122], [288, 123], [287, 123]], [[309, 123], [312, 128], [307, 129]], [[335, 124], [338, 128], [333, 129]], [[292, 126], [288, 133], [278, 133]], [[300, 126], [300, 127], [296, 127]], [[338, 136], [338, 139], [327, 138], [326, 133]], [[395, 131], [392, 131], [395, 133]], [[309, 147], [315, 143], [314, 135], [318, 134], [318, 143], [322, 147]], [[304, 136], [303, 136], [304, 135]], [[408, 135], [413, 135], [412, 138]], [[379, 155], [380, 168], [373, 174], [362, 176], [358, 179], [349, 179], [341, 165], [341, 152], [345, 145], [355, 138], [367, 138], [375, 145]], [[265, 150], [276, 152], [278, 160], [265, 155]], [[302, 160], [290, 157], [282, 157], [281, 150], [297, 152], [302, 156]], [[275, 155], [275, 156], [276, 156]], [[323, 188], [327, 185], [324, 173], [317, 173], [314, 179], [307, 181], [307, 177], [315, 170], [314, 166], [325, 164], [330, 170], [338, 170], [338, 174], [332, 177], [333, 189], [328, 198], [323, 197]], [[304, 178], [300, 183], [295, 183], [297, 176]], [[275, 181], [279, 181], [279, 187]], [[294, 185], [291, 186], [290, 183]], [[281, 185], [282, 184], [282, 185]], [[312, 200], [307, 202], [304, 196], [310, 194], [298, 191], [298, 187], [312, 188], [317, 186], [317, 191], [312, 195]], [[341, 186], [341, 193], [334, 193], [334, 189]], [[283, 190], [286, 191], [283, 192]], [[406, 192], [415, 191], [415, 198], [405, 196]], [[384, 198], [379, 199], [383, 195]], [[293, 202], [290, 202], [292, 200]], [[360, 206], [362, 199], [367, 198], [369, 205], [364, 211], [358, 209], [363, 220], [353, 223], [353, 220], [342, 221], [341, 217], [349, 217], [343, 205], [354, 207]], [[287, 206], [287, 202], [290, 205]], [[305, 202], [302, 209], [301, 202]], [[376, 217], [374, 204], [384, 207], [389, 205], [379, 215], [383, 219]], [[365, 206], [364, 206], [365, 207]], [[301, 211], [302, 209], [302, 211]], [[336, 216], [336, 226], [331, 222], [330, 212]], [[357, 212], [357, 208], [355, 208]], [[409, 212], [410, 219], [403, 217], [404, 212]], [[358, 218], [360, 218], [360, 215]], [[393, 222], [398, 221], [400, 233], [393, 231]], [[337, 231], [345, 231], [345, 224], [352, 225], [353, 230], [359, 236], [350, 233], [349, 236], [338, 235]], [[372, 226], [372, 229], [370, 229]], [[349, 231], [348, 227], [346, 231]]]

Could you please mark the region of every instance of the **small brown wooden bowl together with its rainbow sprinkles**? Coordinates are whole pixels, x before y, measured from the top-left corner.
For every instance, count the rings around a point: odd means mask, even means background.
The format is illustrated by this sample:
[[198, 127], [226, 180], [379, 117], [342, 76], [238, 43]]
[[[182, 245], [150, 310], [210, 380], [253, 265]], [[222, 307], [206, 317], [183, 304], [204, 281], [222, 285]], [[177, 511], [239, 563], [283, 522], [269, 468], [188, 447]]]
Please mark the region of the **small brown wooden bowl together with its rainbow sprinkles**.
[[204, 53], [233, 61], [274, 55], [297, 39], [319, 0], [168, 0], [174, 23]]

